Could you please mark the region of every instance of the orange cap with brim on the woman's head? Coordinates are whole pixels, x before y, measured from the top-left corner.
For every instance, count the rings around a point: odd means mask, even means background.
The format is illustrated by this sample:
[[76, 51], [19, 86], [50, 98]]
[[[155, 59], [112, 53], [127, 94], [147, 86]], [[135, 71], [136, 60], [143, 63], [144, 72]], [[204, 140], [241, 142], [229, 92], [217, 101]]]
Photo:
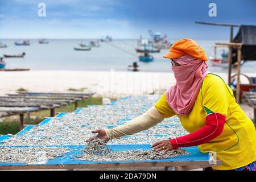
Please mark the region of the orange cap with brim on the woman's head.
[[177, 58], [183, 55], [190, 55], [203, 61], [208, 60], [204, 50], [192, 39], [180, 39], [172, 44], [164, 58]]

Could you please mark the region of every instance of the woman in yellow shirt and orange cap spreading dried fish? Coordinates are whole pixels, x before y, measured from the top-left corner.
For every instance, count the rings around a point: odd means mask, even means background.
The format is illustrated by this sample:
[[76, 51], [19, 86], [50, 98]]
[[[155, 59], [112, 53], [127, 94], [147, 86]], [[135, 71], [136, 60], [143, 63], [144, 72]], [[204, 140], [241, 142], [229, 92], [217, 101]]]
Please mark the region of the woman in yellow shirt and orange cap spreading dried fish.
[[156, 142], [151, 146], [155, 151], [164, 150], [166, 154], [179, 147], [199, 146], [201, 152], [215, 151], [217, 159], [222, 160], [222, 165], [205, 170], [255, 171], [253, 122], [236, 103], [222, 78], [209, 73], [204, 50], [192, 39], [181, 39], [164, 57], [171, 59], [176, 84], [143, 115], [125, 125], [92, 133], [108, 141], [147, 130], [164, 118], [177, 115], [189, 134]]

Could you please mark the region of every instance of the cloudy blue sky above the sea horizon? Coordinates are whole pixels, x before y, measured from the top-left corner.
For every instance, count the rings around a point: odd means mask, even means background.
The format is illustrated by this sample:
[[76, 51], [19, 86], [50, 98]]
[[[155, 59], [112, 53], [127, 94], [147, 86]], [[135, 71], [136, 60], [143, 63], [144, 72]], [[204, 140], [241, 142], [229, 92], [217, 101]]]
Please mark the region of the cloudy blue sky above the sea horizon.
[[[46, 3], [46, 17], [38, 3]], [[217, 17], [208, 15], [209, 3]], [[168, 38], [229, 39], [228, 27], [196, 20], [256, 25], [255, 0], [0, 0], [0, 38], [148, 38], [147, 31]], [[236, 28], [237, 31], [237, 28]]]

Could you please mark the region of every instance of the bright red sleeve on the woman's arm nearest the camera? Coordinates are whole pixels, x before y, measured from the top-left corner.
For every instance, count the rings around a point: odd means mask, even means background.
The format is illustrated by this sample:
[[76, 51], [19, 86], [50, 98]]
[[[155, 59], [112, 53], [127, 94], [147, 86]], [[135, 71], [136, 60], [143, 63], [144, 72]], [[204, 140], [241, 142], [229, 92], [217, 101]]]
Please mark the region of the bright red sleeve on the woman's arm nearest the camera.
[[206, 125], [204, 127], [183, 137], [170, 139], [172, 147], [176, 149], [208, 143], [222, 133], [225, 122], [226, 118], [224, 115], [220, 113], [209, 114], [206, 117]]

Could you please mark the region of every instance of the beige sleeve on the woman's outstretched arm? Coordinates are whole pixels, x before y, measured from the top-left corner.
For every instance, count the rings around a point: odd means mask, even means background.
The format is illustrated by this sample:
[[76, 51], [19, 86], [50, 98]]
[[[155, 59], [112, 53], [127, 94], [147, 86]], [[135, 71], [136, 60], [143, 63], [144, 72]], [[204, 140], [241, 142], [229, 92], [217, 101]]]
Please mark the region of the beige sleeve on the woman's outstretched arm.
[[125, 123], [124, 125], [114, 127], [113, 129], [105, 129], [105, 133], [109, 139], [123, 137], [125, 135], [133, 135], [140, 131], [147, 130], [163, 121], [164, 117], [152, 106], [141, 116]]

